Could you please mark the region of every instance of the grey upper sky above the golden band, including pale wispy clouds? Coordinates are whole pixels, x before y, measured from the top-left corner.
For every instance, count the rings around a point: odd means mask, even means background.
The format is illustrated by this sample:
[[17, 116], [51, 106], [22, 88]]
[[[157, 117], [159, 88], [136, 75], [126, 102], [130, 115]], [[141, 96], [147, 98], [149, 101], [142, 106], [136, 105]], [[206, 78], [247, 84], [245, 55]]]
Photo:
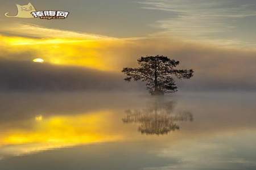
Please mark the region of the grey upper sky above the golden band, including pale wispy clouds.
[[255, 45], [253, 0], [87, 0], [1, 1], [1, 11], [16, 13], [16, 4], [31, 2], [37, 10], [67, 10], [66, 20], [10, 19], [53, 29], [111, 37], [171, 36], [185, 40]]

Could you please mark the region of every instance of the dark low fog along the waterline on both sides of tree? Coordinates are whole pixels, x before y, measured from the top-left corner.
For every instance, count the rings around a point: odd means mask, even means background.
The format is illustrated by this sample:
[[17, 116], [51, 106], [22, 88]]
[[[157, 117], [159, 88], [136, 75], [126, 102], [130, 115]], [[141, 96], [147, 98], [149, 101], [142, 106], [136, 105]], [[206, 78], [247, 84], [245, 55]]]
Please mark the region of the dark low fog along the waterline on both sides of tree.
[[[214, 71], [202, 72], [194, 69], [195, 76], [189, 80], [176, 80], [177, 85], [181, 91], [255, 91], [253, 70], [235, 71], [229, 67], [226, 69], [221, 75]], [[232, 74], [233, 78], [229, 77], [229, 74]], [[147, 92], [144, 87], [145, 83], [125, 82], [123, 80], [125, 76], [121, 74], [121, 70], [110, 72], [78, 66], [0, 60], [0, 76], [2, 79], [0, 91], [2, 92]]]

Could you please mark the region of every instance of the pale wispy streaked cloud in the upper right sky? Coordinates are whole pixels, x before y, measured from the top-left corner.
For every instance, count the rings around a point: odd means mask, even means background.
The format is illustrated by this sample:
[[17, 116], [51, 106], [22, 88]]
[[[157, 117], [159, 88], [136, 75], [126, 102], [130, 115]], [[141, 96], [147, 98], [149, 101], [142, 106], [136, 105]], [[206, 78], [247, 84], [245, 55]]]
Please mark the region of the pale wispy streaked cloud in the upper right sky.
[[[246, 1], [209, 0], [145, 0], [142, 8], [174, 12], [175, 16], [158, 20], [153, 27], [162, 29], [155, 36], [175, 36], [183, 40], [201, 41], [221, 45], [255, 46], [236, 37], [238, 21], [256, 16], [256, 4]], [[171, 15], [171, 14], [170, 14]], [[235, 33], [236, 32], [236, 33]], [[232, 36], [230, 36], [232, 34]]]

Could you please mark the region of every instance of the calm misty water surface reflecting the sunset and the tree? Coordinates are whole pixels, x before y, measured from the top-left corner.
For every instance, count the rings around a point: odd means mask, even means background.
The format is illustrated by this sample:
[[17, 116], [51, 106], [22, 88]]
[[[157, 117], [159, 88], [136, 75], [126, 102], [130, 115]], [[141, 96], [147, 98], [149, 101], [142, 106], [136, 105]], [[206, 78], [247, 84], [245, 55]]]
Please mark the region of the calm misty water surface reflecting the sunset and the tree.
[[255, 99], [1, 94], [0, 169], [256, 169]]

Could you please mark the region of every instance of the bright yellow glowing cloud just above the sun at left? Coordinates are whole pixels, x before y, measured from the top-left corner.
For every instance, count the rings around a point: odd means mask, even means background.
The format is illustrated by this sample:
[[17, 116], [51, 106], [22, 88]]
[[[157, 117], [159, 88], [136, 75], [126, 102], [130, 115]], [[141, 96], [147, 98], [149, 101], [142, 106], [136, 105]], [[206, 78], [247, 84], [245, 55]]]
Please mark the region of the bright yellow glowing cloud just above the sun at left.
[[106, 56], [104, 61], [100, 55], [108, 51], [109, 46], [124, 44], [123, 40], [113, 37], [43, 28], [38, 25], [16, 24], [3, 27], [1, 31], [2, 58], [10, 59], [10, 56], [17, 53], [30, 53], [30, 56], [15, 59], [43, 58], [49, 63], [86, 66], [97, 70], [113, 70], [106, 64], [113, 62], [111, 58]]

